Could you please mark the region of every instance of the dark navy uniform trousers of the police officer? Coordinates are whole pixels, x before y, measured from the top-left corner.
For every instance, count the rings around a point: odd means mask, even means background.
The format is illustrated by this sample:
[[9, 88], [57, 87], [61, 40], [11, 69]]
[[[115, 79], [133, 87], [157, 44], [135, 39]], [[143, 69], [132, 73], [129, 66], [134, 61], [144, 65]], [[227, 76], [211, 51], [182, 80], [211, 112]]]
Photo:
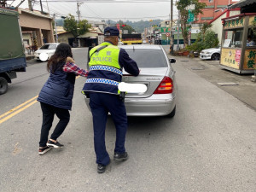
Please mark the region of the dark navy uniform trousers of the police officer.
[[127, 130], [125, 103], [117, 95], [91, 92], [90, 109], [93, 116], [96, 163], [107, 166], [110, 161], [105, 145], [108, 112], [111, 113], [116, 128], [114, 152], [123, 154], [125, 153], [125, 134]]

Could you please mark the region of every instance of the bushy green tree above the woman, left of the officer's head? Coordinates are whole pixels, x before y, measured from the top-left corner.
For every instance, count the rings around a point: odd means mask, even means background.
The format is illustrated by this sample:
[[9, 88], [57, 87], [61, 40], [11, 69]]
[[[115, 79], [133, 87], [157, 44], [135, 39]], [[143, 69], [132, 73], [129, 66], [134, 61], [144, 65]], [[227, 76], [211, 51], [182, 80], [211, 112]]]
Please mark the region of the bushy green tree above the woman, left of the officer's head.
[[90, 27], [91, 26], [87, 20], [77, 21], [71, 14], [65, 18], [63, 26], [66, 32], [71, 32], [73, 34], [76, 42], [79, 35], [83, 35], [85, 32], [89, 32]]

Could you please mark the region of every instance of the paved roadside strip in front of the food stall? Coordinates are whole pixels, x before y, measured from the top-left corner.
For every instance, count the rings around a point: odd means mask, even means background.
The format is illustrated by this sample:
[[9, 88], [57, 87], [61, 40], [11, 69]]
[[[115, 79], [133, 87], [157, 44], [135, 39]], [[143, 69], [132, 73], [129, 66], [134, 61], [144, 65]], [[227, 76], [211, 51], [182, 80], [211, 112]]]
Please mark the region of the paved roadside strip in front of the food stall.
[[[219, 61], [202, 61], [198, 57], [173, 56], [169, 53], [168, 45], [164, 45], [163, 48], [169, 58], [176, 59], [176, 63], [173, 65], [174, 68], [175, 65], [182, 65], [201, 78], [215, 84], [218, 88], [235, 96], [249, 108], [253, 108], [256, 111], [256, 83], [251, 81], [253, 74], [238, 74], [222, 69], [219, 66]], [[229, 85], [220, 85], [219, 83], [228, 83]], [[230, 85], [230, 83], [236, 85]]]

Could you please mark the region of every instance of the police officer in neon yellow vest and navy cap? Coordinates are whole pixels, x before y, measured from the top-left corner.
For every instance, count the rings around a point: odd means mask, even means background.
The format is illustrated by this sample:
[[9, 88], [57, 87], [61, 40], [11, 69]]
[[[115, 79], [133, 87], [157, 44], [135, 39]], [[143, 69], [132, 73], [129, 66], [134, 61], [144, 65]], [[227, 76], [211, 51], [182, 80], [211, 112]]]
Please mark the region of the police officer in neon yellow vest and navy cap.
[[116, 142], [113, 160], [128, 159], [125, 151], [127, 116], [125, 103], [119, 98], [118, 84], [122, 79], [122, 69], [137, 76], [139, 69], [125, 49], [119, 49], [119, 30], [107, 27], [104, 30], [104, 43], [90, 49], [90, 72], [83, 92], [90, 97], [93, 116], [94, 146], [97, 172], [105, 172], [110, 159], [105, 146], [105, 130], [108, 112], [111, 113], [116, 127]]

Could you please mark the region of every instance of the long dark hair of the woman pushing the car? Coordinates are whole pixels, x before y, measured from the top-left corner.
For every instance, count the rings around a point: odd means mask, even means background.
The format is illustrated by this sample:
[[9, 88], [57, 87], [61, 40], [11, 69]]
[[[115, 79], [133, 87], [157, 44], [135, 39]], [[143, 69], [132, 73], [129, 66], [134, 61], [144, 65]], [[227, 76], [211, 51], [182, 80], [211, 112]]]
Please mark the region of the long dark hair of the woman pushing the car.
[[47, 71], [54, 73], [57, 68], [63, 67], [68, 56], [73, 58], [71, 47], [68, 44], [59, 44], [47, 63]]

